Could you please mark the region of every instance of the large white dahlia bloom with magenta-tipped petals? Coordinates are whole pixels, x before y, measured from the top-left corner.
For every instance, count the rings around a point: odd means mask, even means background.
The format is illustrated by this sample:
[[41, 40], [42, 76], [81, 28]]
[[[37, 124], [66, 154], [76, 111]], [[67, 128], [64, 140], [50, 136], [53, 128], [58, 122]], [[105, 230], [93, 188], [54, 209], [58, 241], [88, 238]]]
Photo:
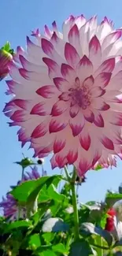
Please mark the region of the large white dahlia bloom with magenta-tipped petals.
[[27, 50], [17, 47], [4, 112], [35, 157], [54, 152], [52, 168], [73, 164], [82, 176], [96, 162], [122, 158], [121, 34], [106, 17], [98, 24], [70, 16], [62, 32], [54, 21], [44, 35], [32, 32]]

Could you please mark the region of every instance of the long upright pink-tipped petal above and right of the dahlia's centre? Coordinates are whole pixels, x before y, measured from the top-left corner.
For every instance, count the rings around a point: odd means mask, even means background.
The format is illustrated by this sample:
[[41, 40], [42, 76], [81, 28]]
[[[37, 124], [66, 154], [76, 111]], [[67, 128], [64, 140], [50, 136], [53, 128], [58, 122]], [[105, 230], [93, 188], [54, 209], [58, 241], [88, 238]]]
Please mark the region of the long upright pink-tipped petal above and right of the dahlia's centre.
[[98, 69], [98, 66], [101, 64], [101, 58], [102, 58], [101, 45], [97, 36], [94, 35], [89, 43], [89, 59], [94, 65], [94, 70]]

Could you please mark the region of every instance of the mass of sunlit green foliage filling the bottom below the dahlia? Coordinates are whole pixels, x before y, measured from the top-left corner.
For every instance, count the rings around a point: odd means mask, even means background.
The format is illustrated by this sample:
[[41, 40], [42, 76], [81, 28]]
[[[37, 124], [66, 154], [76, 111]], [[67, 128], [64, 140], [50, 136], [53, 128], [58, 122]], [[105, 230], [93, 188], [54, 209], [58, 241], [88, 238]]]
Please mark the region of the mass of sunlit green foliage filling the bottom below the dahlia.
[[[27, 158], [17, 163], [22, 169], [34, 164]], [[62, 179], [65, 184], [59, 191]], [[27, 211], [25, 217], [18, 215], [13, 221], [9, 217], [0, 218], [0, 255], [120, 255], [121, 238], [116, 241], [113, 234], [105, 230], [105, 223], [109, 206], [120, 200], [121, 194], [108, 191], [105, 202], [101, 203], [81, 204], [77, 197], [79, 238], [76, 240], [71, 192], [72, 184], [78, 186], [75, 179], [74, 173], [72, 177], [68, 173], [67, 176], [43, 176], [9, 191], [17, 200], [18, 210], [24, 207]]]

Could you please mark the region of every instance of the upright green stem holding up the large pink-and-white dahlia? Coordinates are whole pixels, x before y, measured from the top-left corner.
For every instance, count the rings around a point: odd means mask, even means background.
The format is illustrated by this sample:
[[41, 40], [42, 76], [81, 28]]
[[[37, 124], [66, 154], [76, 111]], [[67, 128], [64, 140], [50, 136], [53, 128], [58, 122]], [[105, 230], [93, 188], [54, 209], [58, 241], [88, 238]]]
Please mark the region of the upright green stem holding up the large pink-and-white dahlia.
[[72, 191], [72, 206], [74, 210], [74, 236], [75, 241], [79, 240], [79, 214], [77, 209], [77, 199], [76, 199], [76, 190], [75, 190], [75, 181], [76, 181], [76, 170], [74, 169], [71, 180], [71, 191]]

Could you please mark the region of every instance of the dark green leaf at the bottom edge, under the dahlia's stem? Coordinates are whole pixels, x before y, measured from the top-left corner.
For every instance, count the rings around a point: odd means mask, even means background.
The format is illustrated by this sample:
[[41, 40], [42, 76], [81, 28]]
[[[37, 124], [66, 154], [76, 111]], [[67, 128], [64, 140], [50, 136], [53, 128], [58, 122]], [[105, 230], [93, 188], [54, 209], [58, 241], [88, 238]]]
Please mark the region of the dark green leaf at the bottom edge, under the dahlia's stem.
[[89, 256], [90, 254], [92, 254], [92, 250], [87, 241], [81, 240], [72, 243], [69, 256]]

